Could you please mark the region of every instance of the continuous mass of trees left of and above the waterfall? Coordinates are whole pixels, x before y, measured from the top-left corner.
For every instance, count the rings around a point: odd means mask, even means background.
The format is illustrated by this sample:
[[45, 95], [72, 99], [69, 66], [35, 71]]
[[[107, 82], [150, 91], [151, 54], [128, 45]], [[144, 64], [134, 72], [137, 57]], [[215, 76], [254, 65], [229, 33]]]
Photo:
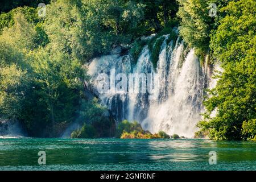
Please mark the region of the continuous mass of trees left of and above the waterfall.
[[177, 22], [176, 2], [46, 1], [46, 16], [38, 3], [1, 2], [0, 121], [32, 137], [58, 137], [77, 120], [72, 137], [113, 136], [111, 115], [84, 92], [82, 64]]

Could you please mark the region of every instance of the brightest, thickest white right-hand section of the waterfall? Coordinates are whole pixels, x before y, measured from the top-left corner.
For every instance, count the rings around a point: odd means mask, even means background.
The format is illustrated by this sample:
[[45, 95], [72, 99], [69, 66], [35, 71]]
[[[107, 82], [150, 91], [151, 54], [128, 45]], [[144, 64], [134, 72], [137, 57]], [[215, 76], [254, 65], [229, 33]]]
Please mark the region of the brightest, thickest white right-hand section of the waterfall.
[[[161, 60], [159, 59], [159, 61]], [[172, 65], [175, 66], [175, 64]], [[150, 107], [148, 117], [142, 121], [142, 126], [145, 129], [154, 133], [166, 131], [185, 137], [193, 136], [196, 131], [195, 125], [201, 118], [199, 71], [199, 60], [191, 50], [185, 58], [179, 74], [171, 78], [173, 88], [167, 90], [167, 100]], [[167, 84], [164, 79], [162, 82]]]

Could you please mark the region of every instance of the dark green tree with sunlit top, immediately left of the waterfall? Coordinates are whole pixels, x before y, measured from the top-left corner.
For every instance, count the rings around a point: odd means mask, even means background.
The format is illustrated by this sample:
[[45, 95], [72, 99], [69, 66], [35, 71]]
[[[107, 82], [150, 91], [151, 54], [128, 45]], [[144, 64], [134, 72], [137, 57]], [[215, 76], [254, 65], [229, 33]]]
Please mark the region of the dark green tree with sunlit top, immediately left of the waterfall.
[[[71, 122], [79, 105], [84, 78], [81, 64], [60, 52], [39, 51], [32, 55], [34, 94], [47, 123]], [[70, 61], [67, 61], [70, 60]], [[35, 111], [37, 114], [39, 110]], [[35, 113], [35, 114], [36, 114]]]

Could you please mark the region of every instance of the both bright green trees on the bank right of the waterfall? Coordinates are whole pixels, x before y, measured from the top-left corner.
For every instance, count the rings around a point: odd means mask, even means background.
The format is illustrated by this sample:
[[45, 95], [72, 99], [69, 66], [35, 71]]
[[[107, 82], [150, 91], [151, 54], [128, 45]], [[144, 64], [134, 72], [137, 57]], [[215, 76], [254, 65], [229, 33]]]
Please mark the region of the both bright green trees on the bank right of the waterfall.
[[208, 90], [196, 137], [255, 140], [255, 1], [212, 1], [217, 5], [216, 16], [208, 15], [212, 7], [207, 1], [179, 2], [180, 35], [199, 55], [209, 54], [211, 62], [223, 69], [216, 72], [217, 86]]

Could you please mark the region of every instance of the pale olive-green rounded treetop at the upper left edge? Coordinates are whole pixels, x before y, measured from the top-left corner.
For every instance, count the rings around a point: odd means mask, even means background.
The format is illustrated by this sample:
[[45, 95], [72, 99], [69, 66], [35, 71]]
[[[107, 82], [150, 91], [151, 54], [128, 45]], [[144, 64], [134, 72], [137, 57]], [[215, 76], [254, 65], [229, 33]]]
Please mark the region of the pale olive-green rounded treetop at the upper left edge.
[[3, 27], [0, 40], [10, 44], [12, 49], [28, 53], [49, 42], [43, 22], [36, 20], [35, 9], [15, 9], [13, 24]]

